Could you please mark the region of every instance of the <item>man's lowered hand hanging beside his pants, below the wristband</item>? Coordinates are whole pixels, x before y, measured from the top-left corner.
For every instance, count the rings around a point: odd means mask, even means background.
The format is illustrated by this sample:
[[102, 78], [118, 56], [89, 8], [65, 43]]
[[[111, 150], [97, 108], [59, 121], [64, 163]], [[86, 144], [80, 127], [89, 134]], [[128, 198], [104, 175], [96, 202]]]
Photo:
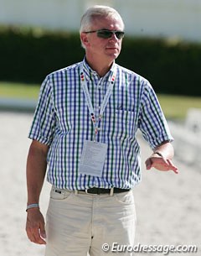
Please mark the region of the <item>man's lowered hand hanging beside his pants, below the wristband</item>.
[[44, 217], [39, 208], [28, 209], [26, 232], [33, 243], [46, 244], [46, 233], [44, 229]]

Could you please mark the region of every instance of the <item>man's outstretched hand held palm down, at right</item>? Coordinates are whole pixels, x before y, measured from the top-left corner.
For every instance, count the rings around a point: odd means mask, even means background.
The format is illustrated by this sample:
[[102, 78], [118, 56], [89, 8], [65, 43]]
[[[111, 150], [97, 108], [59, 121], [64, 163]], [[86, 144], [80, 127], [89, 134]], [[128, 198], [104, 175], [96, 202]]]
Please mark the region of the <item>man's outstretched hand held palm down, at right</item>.
[[165, 159], [164, 157], [152, 154], [150, 158], [145, 162], [147, 170], [155, 168], [157, 170], [168, 171], [173, 170], [174, 173], [178, 174], [177, 166], [173, 165], [170, 159]]

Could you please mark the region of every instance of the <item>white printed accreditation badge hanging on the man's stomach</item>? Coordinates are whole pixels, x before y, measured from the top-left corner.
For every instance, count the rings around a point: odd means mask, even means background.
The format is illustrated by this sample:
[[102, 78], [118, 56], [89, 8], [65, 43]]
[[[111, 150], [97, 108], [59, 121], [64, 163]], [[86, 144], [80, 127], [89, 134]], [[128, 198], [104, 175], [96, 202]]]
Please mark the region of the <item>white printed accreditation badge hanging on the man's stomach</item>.
[[80, 159], [79, 173], [101, 177], [106, 153], [107, 144], [85, 140]]

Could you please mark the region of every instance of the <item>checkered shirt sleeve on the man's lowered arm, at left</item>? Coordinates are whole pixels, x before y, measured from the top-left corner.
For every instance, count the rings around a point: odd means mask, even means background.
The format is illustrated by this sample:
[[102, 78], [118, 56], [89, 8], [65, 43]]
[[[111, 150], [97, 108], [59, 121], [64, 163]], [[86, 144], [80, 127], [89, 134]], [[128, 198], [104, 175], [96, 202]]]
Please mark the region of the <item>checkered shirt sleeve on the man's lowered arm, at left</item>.
[[55, 114], [52, 100], [52, 88], [47, 76], [39, 92], [39, 101], [33, 116], [28, 138], [50, 145], [54, 135]]

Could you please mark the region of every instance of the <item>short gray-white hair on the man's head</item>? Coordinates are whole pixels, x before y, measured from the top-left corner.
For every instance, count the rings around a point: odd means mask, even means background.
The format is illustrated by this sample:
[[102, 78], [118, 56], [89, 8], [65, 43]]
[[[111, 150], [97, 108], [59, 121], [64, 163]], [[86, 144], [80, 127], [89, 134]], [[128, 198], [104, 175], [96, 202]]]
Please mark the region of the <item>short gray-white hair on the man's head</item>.
[[81, 18], [80, 23], [80, 34], [84, 31], [91, 29], [91, 24], [94, 18], [97, 17], [114, 17], [121, 20], [124, 29], [124, 23], [121, 15], [116, 11], [116, 9], [104, 5], [95, 5], [86, 10], [85, 14]]

